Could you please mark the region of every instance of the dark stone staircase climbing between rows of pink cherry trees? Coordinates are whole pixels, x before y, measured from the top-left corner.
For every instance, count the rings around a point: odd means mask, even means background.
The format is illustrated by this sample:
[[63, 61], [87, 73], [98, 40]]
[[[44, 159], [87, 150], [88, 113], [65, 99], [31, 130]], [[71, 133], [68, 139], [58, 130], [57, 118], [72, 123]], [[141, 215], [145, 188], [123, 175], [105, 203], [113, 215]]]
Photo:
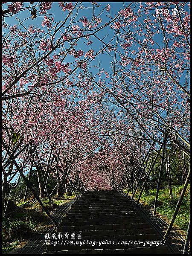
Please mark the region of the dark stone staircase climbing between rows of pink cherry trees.
[[55, 238], [47, 240], [44, 254], [171, 253], [128, 198], [113, 190], [81, 195], [56, 227]]

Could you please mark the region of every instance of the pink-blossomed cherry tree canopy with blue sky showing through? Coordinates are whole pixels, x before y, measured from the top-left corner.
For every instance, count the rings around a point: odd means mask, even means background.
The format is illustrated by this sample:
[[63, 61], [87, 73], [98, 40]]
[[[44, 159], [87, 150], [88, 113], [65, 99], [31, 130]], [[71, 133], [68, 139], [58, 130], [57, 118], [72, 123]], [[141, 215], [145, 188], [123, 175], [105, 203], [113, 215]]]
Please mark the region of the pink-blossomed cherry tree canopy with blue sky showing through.
[[[109, 4], [54, 3], [52, 16], [52, 2], [11, 2], [4, 10], [3, 166], [15, 148], [16, 162], [29, 170], [36, 145], [34, 161], [42, 160], [55, 185], [70, 186], [68, 178], [79, 175], [87, 189], [116, 189], [150, 143], [153, 150], [163, 143], [156, 125], [169, 130], [169, 145], [189, 154], [188, 5], [159, 19], [155, 6], [171, 12], [172, 3], [125, 2], [113, 12]], [[23, 134], [20, 145], [12, 147], [9, 129]], [[8, 178], [16, 171], [10, 166]]]

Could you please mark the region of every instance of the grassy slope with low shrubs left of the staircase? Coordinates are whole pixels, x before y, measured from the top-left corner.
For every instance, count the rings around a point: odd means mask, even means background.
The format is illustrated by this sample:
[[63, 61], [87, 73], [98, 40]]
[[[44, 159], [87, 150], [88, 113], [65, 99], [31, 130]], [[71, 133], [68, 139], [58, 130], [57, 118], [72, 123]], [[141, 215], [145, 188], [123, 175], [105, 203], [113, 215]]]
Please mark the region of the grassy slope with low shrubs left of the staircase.
[[[73, 198], [75, 198], [75, 195], [65, 195], [60, 198], [53, 197], [52, 204], [49, 204], [47, 198], [43, 199], [42, 202], [51, 211], [57, 208], [59, 204], [65, 203]], [[23, 238], [29, 238], [34, 233], [41, 233], [47, 229], [44, 222], [48, 217], [38, 202], [23, 203], [18, 201], [16, 205], [20, 208], [6, 215], [6, 218], [3, 220], [3, 254], [9, 253]], [[21, 229], [22, 233], [17, 232]], [[17, 235], [14, 236], [14, 233], [17, 233]]]

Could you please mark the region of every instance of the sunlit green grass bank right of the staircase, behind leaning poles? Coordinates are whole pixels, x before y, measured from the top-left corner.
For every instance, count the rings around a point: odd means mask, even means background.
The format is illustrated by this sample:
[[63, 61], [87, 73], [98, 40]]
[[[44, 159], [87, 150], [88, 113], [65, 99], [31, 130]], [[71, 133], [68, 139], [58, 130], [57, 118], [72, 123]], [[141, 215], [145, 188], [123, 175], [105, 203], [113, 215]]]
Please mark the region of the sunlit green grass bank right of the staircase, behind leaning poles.
[[[157, 213], [166, 216], [169, 220], [172, 219], [177, 201], [180, 193], [183, 189], [183, 185], [173, 185], [173, 200], [169, 198], [169, 189], [160, 189], [157, 201]], [[140, 191], [137, 191], [135, 198], [138, 198]], [[141, 200], [146, 203], [150, 208], [154, 206], [156, 189], [149, 189], [148, 192], [143, 192]], [[179, 212], [175, 219], [175, 224], [182, 230], [187, 231], [188, 223], [190, 218], [190, 186], [187, 187], [186, 194], [183, 198], [183, 202], [180, 206]]]

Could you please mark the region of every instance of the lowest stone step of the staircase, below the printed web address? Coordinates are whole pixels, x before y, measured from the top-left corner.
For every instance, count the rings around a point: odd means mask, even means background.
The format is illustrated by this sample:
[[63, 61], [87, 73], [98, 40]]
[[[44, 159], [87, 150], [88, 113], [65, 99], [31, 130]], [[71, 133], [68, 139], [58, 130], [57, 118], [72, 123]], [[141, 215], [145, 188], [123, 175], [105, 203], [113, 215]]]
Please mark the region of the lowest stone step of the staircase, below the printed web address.
[[50, 251], [43, 254], [168, 254], [170, 253], [169, 248], [166, 246], [156, 247], [136, 247], [136, 248], [125, 248], [125, 249], [80, 249], [80, 250], [60, 250]]

